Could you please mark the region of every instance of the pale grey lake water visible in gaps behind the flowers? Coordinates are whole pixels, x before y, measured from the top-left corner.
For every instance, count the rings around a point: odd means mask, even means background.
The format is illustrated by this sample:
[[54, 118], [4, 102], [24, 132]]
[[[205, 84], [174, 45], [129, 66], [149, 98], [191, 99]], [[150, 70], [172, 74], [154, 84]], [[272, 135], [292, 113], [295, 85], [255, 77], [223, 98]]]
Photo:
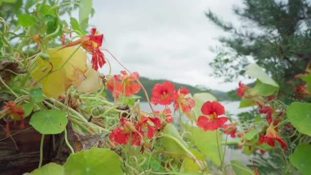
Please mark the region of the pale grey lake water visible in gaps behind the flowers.
[[[221, 101], [221, 104], [224, 105], [226, 112], [229, 112], [232, 117], [236, 118], [236, 115], [242, 112], [247, 112], [250, 111], [252, 109], [252, 107], [245, 107], [245, 108], [238, 108], [239, 107], [239, 101]], [[141, 110], [145, 111], [145, 112], [151, 112], [149, 104], [147, 102], [141, 102], [140, 103], [141, 106]], [[153, 110], [163, 110], [164, 106], [163, 105], [152, 105]], [[169, 106], [171, 111], [174, 111], [173, 105]], [[175, 115], [175, 118], [178, 115], [178, 113]], [[187, 118], [183, 117], [183, 121], [186, 121]], [[226, 136], [223, 137], [223, 141], [225, 141]], [[232, 140], [230, 138], [230, 136], [228, 137], [228, 140]], [[223, 146], [224, 149], [224, 146]], [[216, 151], [216, 150], [215, 150]], [[239, 160], [242, 164], [247, 165], [250, 164], [249, 160], [252, 159], [252, 156], [246, 156], [244, 154], [242, 154], [242, 150], [238, 149], [238, 150], [233, 150], [233, 149], [229, 149], [228, 147], [226, 148], [226, 155], [225, 155], [225, 164], [230, 164], [231, 160]]]

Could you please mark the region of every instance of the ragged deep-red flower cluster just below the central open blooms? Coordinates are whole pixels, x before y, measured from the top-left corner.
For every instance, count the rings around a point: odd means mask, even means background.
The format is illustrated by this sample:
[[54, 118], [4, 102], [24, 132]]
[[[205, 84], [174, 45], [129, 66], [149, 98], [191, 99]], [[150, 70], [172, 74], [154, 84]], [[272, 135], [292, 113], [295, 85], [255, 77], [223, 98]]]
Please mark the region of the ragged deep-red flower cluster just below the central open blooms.
[[144, 130], [147, 130], [147, 138], [151, 139], [158, 129], [161, 128], [161, 120], [158, 117], [142, 116], [136, 124], [125, 118], [120, 119], [120, 127], [117, 127], [110, 134], [109, 139], [115, 145], [126, 145], [131, 140], [131, 145], [140, 146], [141, 140], [145, 137]]

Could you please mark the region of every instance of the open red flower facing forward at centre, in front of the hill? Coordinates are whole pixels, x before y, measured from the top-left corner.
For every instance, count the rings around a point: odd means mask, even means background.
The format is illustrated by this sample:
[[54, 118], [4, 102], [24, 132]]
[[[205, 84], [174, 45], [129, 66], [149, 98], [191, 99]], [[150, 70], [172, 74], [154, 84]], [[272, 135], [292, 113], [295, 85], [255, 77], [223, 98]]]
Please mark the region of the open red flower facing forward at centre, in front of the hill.
[[154, 85], [151, 91], [151, 102], [154, 105], [170, 105], [172, 100], [176, 100], [178, 97], [178, 94], [174, 89], [174, 85], [168, 81], [163, 82], [163, 84]]

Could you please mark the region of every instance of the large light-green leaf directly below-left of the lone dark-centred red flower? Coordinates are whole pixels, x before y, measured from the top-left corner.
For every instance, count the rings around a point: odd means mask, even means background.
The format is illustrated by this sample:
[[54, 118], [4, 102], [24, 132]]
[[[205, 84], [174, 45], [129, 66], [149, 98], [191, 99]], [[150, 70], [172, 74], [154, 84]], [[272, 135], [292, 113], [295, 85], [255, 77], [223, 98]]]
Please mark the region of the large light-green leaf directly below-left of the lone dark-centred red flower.
[[202, 128], [196, 126], [191, 126], [189, 124], [185, 125], [187, 132], [190, 132], [189, 139], [195, 144], [195, 146], [203, 152], [213, 163], [220, 166], [220, 158], [218, 154], [218, 149], [220, 151], [220, 156], [222, 158], [223, 151], [221, 149], [221, 136], [218, 134], [218, 146], [216, 142], [216, 132], [214, 131], [204, 131]]

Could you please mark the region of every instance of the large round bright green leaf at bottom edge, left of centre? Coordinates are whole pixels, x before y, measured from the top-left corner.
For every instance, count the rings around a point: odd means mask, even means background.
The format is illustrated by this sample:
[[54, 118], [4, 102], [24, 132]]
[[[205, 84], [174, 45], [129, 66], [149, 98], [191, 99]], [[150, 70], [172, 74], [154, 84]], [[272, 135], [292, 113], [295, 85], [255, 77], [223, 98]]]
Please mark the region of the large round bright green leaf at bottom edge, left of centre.
[[116, 152], [96, 147], [71, 154], [64, 168], [65, 174], [123, 174]]

